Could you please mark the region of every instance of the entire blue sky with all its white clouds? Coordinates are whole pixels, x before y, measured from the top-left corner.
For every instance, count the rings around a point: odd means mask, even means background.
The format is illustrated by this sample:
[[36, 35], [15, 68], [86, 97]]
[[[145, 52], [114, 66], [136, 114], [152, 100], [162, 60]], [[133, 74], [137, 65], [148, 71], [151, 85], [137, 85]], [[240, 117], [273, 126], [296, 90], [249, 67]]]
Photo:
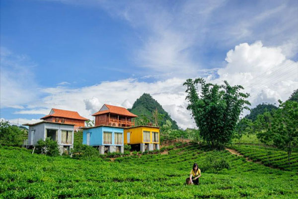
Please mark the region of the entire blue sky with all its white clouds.
[[0, 25], [0, 117], [11, 122], [51, 107], [92, 118], [146, 92], [187, 127], [187, 78], [259, 82], [253, 105], [298, 88], [296, 0], [1, 0]]

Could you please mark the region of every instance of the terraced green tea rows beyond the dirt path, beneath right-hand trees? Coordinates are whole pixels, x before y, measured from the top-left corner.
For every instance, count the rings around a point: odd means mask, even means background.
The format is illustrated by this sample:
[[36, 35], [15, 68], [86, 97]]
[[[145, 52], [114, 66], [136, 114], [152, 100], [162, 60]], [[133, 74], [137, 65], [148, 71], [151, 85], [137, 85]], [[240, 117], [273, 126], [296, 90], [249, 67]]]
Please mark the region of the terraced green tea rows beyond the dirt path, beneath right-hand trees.
[[266, 166], [298, 172], [298, 153], [296, 152], [292, 153], [289, 165], [287, 152], [274, 147], [245, 144], [240, 144], [240, 147], [238, 147], [235, 144], [229, 146], [229, 148], [235, 149], [245, 157], [255, 162], [261, 162]]

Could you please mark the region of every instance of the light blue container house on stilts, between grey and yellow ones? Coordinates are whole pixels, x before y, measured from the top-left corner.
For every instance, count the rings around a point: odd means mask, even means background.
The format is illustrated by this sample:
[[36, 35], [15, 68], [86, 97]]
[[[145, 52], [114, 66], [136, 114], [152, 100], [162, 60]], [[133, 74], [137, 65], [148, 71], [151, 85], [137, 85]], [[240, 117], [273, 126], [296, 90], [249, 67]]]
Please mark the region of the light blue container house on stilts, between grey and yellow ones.
[[83, 127], [83, 144], [98, 147], [99, 152], [124, 152], [123, 127], [94, 126]]

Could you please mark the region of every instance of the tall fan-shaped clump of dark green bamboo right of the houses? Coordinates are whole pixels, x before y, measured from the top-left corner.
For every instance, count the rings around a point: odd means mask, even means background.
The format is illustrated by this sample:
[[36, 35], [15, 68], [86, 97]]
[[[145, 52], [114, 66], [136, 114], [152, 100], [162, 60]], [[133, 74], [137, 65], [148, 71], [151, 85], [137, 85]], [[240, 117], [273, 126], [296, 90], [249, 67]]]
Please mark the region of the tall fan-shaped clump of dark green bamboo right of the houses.
[[[197, 85], [201, 85], [199, 96]], [[243, 108], [249, 109], [246, 98], [249, 94], [241, 93], [242, 86], [206, 84], [202, 78], [188, 79], [186, 100], [189, 101], [188, 110], [192, 111], [202, 138], [212, 147], [223, 149], [229, 143], [239, 115]]]

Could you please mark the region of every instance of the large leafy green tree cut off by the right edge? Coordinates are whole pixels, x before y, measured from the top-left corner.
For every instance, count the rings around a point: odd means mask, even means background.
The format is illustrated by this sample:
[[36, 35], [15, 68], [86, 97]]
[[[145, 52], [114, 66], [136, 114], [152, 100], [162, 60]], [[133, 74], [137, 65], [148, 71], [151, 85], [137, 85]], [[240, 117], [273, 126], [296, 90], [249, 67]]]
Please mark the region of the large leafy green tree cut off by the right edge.
[[293, 148], [298, 145], [298, 102], [279, 100], [279, 109], [273, 114], [272, 122], [266, 128], [266, 131], [259, 133], [259, 137], [270, 139], [279, 149], [288, 153], [288, 162]]

